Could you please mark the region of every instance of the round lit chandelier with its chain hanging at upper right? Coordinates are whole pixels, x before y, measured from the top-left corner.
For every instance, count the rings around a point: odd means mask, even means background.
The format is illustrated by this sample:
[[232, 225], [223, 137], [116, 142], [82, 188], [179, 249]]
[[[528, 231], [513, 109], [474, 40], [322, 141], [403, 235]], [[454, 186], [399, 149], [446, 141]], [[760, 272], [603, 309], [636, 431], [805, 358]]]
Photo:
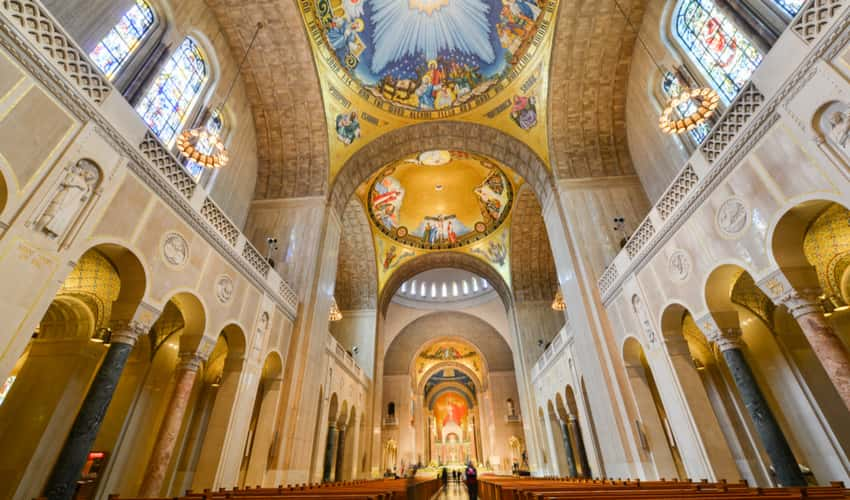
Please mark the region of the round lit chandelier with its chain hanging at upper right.
[[[626, 15], [626, 12], [617, 0], [614, 0], [614, 5], [617, 6], [617, 10], [620, 11], [620, 14], [622, 14], [626, 23], [634, 32], [641, 47], [643, 47], [643, 50], [647, 53], [649, 58], [652, 59], [652, 63], [655, 65], [655, 68], [658, 69], [658, 72], [661, 73], [661, 77], [664, 78], [664, 70], [661, 69], [661, 65], [658, 64], [655, 56], [652, 55], [652, 52], [643, 42], [643, 38], [640, 37], [640, 31], [638, 31], [637, 28], [635, 28], [635, 25], [632, 24], [632, 20]], [[682, 116], [680, 119], [676, 119], [676, 114], [681, 114], [679, 106], [689, 102], [696, 104], [694, 106], [695, 111], [688, 116]], [[658, 128], [670, 135], [689, 132], [705, 123], [705, 121], [714, 114], [714, 111], [717, 109], [719, 104], [720, 96], [717, 94], [717, 91], [712, 88], [700, 87], [689, 89], [687, 87], [683, 87], [681, 92], [677, 95], [671, 96], [670, 99], [667, 100], [667, 106], [658, 118]]]

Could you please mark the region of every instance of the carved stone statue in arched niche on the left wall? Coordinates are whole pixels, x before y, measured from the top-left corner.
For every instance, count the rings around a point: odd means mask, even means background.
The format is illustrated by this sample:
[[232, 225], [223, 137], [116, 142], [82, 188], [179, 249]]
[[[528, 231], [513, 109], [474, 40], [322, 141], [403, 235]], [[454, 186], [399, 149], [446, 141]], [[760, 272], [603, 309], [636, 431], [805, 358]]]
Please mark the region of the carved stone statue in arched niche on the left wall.
[[100, 169], [89, 160], [80, 160], [67, 170], [54, 189], [35, 228], [50, 239], [63, 236], [83, 212], [100, 180]]

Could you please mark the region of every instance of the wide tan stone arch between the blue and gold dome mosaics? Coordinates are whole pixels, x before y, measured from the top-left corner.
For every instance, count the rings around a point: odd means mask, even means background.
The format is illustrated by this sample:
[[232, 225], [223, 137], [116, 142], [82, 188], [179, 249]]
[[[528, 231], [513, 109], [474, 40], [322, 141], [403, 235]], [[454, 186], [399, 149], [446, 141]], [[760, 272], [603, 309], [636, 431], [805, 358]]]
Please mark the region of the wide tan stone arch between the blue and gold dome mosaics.
[[342, 214], [357, 187], [378, 168], [405, 155], [431, 149], [457, 149], [488, 156], [522, 176], [538, 199], [546, 200], [554, 193], [551, 171], [524, 142], [486, 125], [437, 121], [388, 132], [354, 153], [331, 185], [328, 194], [331, 206]]

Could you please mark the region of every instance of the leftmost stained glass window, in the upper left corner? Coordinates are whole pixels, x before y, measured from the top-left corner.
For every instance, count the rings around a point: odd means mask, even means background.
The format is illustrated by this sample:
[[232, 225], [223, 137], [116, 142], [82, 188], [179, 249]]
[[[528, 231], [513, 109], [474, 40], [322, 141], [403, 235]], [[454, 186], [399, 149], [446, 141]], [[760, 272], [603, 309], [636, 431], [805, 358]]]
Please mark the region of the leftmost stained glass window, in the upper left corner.
[[151, 6], [145, 0], [136, 0], [135, 5], [130, 7], [118, 24], [109, 30], [89, 53], [89, 57], [111, 80], [130, 58], [130, 54], [139, 47], [145, 34], [153, 26], [153, 21]]

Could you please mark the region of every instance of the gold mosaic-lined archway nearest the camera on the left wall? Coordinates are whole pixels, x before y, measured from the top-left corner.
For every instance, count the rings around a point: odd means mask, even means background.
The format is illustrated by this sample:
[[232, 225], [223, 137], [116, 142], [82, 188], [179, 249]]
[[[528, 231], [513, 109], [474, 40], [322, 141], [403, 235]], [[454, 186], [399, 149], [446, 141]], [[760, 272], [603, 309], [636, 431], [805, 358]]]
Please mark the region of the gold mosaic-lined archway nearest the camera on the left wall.
[[[100, 373], [101, 359], [117, 352], [109, 347], [113, 334], [116, 338], [128, 335], [128, 322], [139, 308], [145, 288], [141, 262], [124, 247], [98, 245], [77, 259], [13, 370], [4, 374], [0, 439], [10, 448], [0, 459], [0, 496], [11, 498], [16, 491], [22, 497], [41, 494], [62, 451], [61, 446], [43, 443], [66, 441], [93, 377]], [[126, 342], [129, 346], [117, 347], [126, 349], [124, 361], [112, 372], [118, 391], [109, 391], [109, 397], [116, 398], [117, 392], [117, 404], [92, 424], [102, 432], [96, 443], [87, 445], [106, 450], [97, 458], [115, 447], [128, 411], [126, 395], [136, 389], [134, 377], [124, 376], [126, 359], [132, 358], [130, 365], [144, 360], [148, 346], [141, 342], [130, 350], [135, 338]], [[132, 368], [128, 371], [134, 372]], [[103, 479], [102, 468], [101, 474], [89, 479], [86, 487], [93, 491]]]

